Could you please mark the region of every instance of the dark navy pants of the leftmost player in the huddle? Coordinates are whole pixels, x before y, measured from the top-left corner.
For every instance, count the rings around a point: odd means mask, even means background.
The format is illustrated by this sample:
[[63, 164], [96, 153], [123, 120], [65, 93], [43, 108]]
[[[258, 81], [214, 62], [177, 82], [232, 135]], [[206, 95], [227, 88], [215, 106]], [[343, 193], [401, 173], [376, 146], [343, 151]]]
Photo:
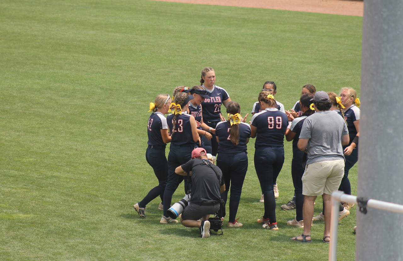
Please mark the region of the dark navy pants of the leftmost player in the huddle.
[[140, 208], [145, 208], [145, 206], [150, 203], [153, 199], [158, 197], [161, 198], [161, 201], [164, 197], [164, 190], [166, 185], [166, 179], [168, 177], [168, 162], [166, 161], [165, 156], [165, 147], [164, 148], [154, 148], [152, 146], [148, 146], [145, 151], [145, 160], [147, 163], [152, 166], [154, 170], [154, 174], [158, 179], [158, 186], [152, 188], [150, 192], [139, 202]]

